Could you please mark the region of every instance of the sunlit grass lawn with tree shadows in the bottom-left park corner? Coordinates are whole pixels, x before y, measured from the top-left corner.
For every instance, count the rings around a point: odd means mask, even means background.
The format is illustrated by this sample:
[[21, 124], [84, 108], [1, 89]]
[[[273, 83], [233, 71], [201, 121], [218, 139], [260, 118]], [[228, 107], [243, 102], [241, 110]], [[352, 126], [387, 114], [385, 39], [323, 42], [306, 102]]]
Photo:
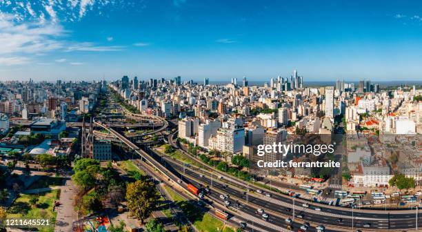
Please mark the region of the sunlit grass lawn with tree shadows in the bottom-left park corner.
[[8, 209], [7, 218], [14, 219], [48, 219], [50, 226], [39, 226], [38, 231], [52, 232], [56, 222], [57, 212], [53, 212], [54, 200], [58, 200], [59, 190], [39, 193], [39, 201], [36, 206], [29, 203], [32, 195], [21, 194]]

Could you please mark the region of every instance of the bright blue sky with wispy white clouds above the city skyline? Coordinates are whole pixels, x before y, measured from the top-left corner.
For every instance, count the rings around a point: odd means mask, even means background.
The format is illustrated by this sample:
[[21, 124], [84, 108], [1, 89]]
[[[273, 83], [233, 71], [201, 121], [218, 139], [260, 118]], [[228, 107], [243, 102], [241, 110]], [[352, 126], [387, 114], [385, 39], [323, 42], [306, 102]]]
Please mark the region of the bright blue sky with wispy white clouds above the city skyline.
[[422, 1], [0, 0], [0, 80], [421, 80]]

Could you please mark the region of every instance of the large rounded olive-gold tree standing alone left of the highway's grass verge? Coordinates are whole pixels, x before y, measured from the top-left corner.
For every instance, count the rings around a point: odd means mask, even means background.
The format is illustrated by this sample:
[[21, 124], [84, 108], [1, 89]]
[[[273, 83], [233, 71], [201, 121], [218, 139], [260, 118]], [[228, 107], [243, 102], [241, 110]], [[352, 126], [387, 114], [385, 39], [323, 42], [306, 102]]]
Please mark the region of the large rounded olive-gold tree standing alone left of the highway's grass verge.
[[157, 189], [150, 180], [137, 180], [126, 187], [126, 200], [132, 215], [143, 221], [147, 219], [157, 204]]

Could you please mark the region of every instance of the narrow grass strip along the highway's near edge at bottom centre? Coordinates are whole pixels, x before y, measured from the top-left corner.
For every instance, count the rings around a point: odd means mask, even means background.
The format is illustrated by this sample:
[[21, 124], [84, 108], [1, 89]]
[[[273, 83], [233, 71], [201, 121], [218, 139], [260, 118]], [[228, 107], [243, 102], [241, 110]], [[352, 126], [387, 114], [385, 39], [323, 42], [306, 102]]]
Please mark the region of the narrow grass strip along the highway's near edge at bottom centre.
[[180, 195], [174, 192], [169, 186], [165, 186], [167, 191], [179, 207], [183, 210], [185, 215], [193, 222], [198, 231], [204, 232], [234, 232], [235, 229], [231, 226], [225, 226], [223, 222], [214, 218], [212, 215], [201, 212], [194, 202], [184, 200]]

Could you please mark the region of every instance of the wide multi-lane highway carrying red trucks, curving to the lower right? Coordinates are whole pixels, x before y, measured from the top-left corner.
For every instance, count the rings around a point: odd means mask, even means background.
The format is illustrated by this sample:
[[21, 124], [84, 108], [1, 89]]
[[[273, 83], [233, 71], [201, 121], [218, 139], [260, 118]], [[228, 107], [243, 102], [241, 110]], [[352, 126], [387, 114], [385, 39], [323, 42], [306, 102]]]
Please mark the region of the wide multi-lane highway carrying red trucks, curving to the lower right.
[[[141, 117], [140, 115], [131, 116]], [[165, 128], [168, 126], [165, 120], [162, 119], [161, 122], [163, 122]], [[183, 163], [175, 162], [170, 157], [148, 148], [146, 149], [148, 153], [145, 153], [123, 135], [106, 125], [99, 125], [109, 129], [118, 139], [134, 149], [134, 152], [141, 155], [161, 173], [170, 177], [171, 180], [183, 180], [182, 186], [187, 183], [194, 184], [199, 188], [211, 186], [211, 191], [207, 197], [219, 204], [225, 204], [224, 202], [229, 200], [231, 202], [230, 210], [242, 213], [245, 221], [250, 217], [254, 218], [254, 220], [257, 220], [257, 224], [264, 227], [262, 228], [264, 231], [280, 231], [287, 228], [286, 218], [292, 219], [292, 226], [295, 229], [299, 228], [303, 222], [310, 222], [309, 231], [315, 231], [315, 226], [319, 224], [324, 224], [327, 227], [326, 231], [350, 231], [352, 228], [362, 231], [403, 231], [404, 229], [414, 230], [416, 227], [416, 211], [368, 211], [358, 209], [352, 211], [348, 208], [294, 199], [287, 195], [261, 189], [261, 191], [271, 194], [266, 196], [264, 193], [257, 193], [257, 186], [236, 180], [225, 173], [211, 171], [209, 168], [186, 167]], [[165, 128], [163, 126], [160, 130], [164, 131]], [[169, 137], [168, 140], [171, 144], [172, 137]], [[177, 144], [173, 144], [173, 146], [177, 147]], [[220, 177], [223, 177], [223, 179], [220, 179]], [[221, 199], [220, 195], [229, 195], [230, 197]], [[303, 204], [306, 205], [303, 206]], [[257, 213], [258, 209], [263, 209], [268, 213], [267, 222], [264, 222], [262, 213]], [[301, 218], [297, 218], [298, 215]], [[420, 220], [422, 220], [422, 216], [418, 215], [418, 221], [420, 222]]]

